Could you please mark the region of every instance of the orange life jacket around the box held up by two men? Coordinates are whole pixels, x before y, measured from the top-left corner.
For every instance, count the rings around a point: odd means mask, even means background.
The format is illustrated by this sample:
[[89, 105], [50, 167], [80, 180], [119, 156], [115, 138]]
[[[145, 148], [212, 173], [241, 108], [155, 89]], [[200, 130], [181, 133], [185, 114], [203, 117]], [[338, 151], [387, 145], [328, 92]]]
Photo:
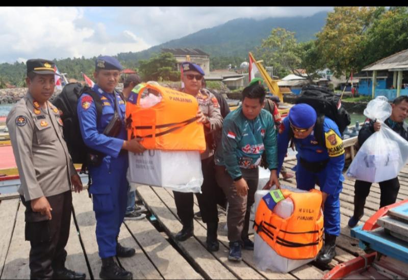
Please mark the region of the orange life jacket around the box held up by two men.
[[[151, 107], [141, 107], [140, 99], [152, 92], [161, 101]], [[126, 102], [126, 127], [128, 139], [143, 138], [146, 149], [206, 150], [206, 139], [201, 123], [197, 123], [198, 102], [192, 95], [169, 88], [139, 85]]]

